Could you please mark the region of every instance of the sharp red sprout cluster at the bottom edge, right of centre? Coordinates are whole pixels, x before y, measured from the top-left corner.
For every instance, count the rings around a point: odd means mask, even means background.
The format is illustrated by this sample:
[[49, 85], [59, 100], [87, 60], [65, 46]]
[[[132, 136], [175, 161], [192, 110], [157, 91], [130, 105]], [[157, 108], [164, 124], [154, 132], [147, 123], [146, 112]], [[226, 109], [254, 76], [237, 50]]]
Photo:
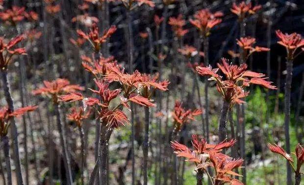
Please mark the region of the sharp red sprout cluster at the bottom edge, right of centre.
[[[229, 141], [224, 140], [218, 144], [209, 144], [206, 139], [198, 135], [192, 135], [193, 150], [177, 141], [171, 142], [171, 147], [177, 157], [184, 157], [186, 161], [194, 162], [196, 171], [206, 173], [213, 185], [223, 185], [225, 183], [243, 185], [233, 178], [233, 176], [241, 176], [234, 172], [233, 169], [240, 168], [244, 160], [232, 159], [228, 155], [221, 153], [223, 149], [230, 148], [235, 142], [235, 139], [231, 139]], [[214, 171], [213, 177], [208, 171], [209, 167]]]

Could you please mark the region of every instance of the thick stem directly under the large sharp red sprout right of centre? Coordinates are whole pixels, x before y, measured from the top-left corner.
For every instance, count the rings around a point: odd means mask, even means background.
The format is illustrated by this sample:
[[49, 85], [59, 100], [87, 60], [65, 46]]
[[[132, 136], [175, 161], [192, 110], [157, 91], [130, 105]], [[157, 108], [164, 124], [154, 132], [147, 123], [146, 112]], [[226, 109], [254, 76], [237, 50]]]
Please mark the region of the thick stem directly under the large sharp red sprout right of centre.
[[[228, 110], [229, 110], [229, 103], [226, 100], [224, 100], [221, 111], [221, 117], [219, 121], [219, 142], [222, 142], [225, 139], [227, 139], [226, 119], [227, 119]], [[223, 150], [223, 152], [225, 153], [225, 150]]]

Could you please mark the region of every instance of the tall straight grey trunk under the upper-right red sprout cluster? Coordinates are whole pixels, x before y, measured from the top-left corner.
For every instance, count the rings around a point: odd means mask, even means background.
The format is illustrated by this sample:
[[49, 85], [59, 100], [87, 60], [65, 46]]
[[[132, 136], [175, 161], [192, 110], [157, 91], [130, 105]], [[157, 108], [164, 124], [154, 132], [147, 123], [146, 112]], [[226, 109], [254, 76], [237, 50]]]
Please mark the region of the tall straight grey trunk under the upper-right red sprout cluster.
[[[284, 126], [285, 126], [285, 140], [286, 140], [286, 152], [290, 154], [290, 137], [289, 137], [289, 122], [290, 122], [290, 91], [291, 91], [291, 82], [292, 82], [292, 66], [293, 61], [287, 60], [286, 68], [286, 83], [285, 83], [285, 97], [284, 97]], [[289, 162], [287, 165], [287, 185], [289, 185], [291, 180], [291, 166]]]

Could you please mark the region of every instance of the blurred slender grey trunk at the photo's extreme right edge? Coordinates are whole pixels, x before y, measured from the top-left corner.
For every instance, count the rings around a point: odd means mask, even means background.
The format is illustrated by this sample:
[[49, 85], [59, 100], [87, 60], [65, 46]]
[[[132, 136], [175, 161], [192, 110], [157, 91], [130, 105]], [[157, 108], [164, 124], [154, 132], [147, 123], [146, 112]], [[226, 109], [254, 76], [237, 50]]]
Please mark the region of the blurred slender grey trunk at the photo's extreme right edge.
[[296, 111], [296, 115], [295, 115], [295, 129], [296, 129], [296, 136], [298, 139], [298, 142], [302, 144], [302, 138], [303, 138], [303, 133], [300, 133], [300, 111], [302, 108], [302, 97], [303, 97], [303, 91], [304, 91], [304, 72], [302, 72], [302, 82], [301, 82], [301, 86], [300, 86], [300, 90], [299, 90], [299, 98], [298, 98], [298, 106], [297, 106], [297, 111]]

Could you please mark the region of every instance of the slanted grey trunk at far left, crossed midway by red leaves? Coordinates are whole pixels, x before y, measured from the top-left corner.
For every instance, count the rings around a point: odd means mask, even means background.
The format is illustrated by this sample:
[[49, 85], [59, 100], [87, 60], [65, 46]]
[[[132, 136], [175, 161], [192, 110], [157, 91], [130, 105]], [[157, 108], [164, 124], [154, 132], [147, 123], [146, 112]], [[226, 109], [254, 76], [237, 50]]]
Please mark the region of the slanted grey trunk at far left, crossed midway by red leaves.
[[[10, 111], [14, 111], [14, 103], [13, 99], [9, 90], [9, 82], [7, 79], [7, 71], [2, 71], [1, 70], [1, 79], [2, 79], [2, 86], [3, 86], [3, 91], [4, 91], [4, 96], [5, 100], [7, 102], [8, 108]], [[18, 145], [18, 132], [17, 132], [17, 127], [15, 123], [15, 118], [12, 117], [10, 119], [11, 125], [11, 136], [12, 136], [12, 141], [13, 141], [13, 150], [14, 150], [14, 157], [15, 157], [15, 166], [16, 166], [16, 175], [17, 175], [17, 182], [18, 185], [23, 185], [23, 180], [22, 180], [22, 173], [21, 173], [21, 165], [20, 165], [20, 158], [19, 158], [19, 145]]]

